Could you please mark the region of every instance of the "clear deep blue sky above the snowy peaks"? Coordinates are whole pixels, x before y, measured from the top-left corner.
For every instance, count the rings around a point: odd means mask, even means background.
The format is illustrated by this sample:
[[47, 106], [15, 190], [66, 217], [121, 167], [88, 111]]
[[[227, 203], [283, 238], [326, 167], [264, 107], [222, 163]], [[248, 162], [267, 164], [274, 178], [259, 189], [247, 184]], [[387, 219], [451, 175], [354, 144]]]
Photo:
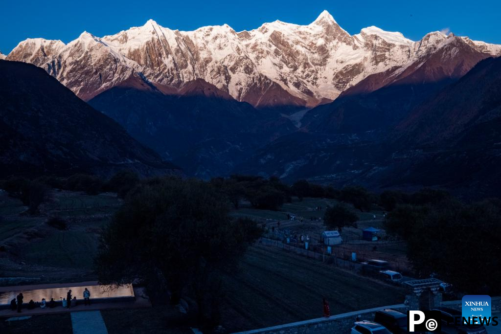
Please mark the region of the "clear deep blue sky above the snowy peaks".
[[228, 24], [236, 31], [281, 20], [309, 24], [327, 10], [350, 34], [377, 26], [419, 40], [430, 31], [449, 29], [456, 35], [501, 44], [499, 1], [5, 1], [0, 12], [0, 50], [7, 54], [26, 38], [68, 43], [83, 31], [115, 34], [148, 19], [170, 29], [193, 30]]

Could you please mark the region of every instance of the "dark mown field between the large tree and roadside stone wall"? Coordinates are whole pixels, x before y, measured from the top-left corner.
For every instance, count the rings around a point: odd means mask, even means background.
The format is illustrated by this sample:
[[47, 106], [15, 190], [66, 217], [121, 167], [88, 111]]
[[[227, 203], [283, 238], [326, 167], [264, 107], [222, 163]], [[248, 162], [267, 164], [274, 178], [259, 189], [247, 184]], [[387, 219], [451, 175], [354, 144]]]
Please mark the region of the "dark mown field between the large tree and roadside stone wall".
[[306, 320], [323, 315], [402, 303], [405, 291], [318, 260], [254, 246], [240, 270], [225, 276], [223, 325], [231, 331]]

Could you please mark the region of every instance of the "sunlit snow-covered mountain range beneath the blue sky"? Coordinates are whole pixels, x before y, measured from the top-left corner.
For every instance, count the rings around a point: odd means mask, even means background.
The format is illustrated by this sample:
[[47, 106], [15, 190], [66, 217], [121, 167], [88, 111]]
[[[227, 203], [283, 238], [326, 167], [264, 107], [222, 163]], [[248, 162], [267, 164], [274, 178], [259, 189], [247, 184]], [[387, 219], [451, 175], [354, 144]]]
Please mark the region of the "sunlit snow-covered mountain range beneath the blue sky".
[[184, 32], [149, 20], [102, 38], [84, 32], [68, 44], [27, 39], [7, 60], [44, 68], [85, 101], [116, 86], [177, 94], [202, 79], [257, 108], [314, 107], [371, 75], [398, 77], [452, 42], [485, 57], [501, 55], [500, 45], [440, 32], [417, 42], [377, 27], [350, 35], [324, 11], [306, 26], [275, 21], [242, 32], [227, 25]]

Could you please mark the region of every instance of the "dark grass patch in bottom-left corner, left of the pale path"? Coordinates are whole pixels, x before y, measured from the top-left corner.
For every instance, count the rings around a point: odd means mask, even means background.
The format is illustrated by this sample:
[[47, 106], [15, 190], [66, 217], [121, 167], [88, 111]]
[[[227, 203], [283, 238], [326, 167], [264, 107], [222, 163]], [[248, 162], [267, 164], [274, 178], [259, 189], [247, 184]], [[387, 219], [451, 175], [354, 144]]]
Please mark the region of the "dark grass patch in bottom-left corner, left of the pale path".
[[45, 314], [32, 316], [26, 320], [5, 321], [0, 319], [0, 333], [9, 334], [40, 334], [68, 333], [71, 334], [70, 313]]

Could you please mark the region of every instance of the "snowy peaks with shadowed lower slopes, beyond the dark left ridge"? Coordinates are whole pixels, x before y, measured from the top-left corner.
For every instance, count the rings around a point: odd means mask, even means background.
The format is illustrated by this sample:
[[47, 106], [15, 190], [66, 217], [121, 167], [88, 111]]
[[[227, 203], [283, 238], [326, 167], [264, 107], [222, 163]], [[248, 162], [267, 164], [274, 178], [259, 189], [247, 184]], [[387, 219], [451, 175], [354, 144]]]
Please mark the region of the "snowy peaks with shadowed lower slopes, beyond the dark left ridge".
[[43, 68], [189, 176], [442, 186], [471, 197], [499, 186], [487, 171], [501, 162], [500, 55], [501, 45], [440, 32], [350, 35], [324, 11], [306, 26], [241, 32], [149, 20], [68, 44], [28, 39], [0, 57]]

